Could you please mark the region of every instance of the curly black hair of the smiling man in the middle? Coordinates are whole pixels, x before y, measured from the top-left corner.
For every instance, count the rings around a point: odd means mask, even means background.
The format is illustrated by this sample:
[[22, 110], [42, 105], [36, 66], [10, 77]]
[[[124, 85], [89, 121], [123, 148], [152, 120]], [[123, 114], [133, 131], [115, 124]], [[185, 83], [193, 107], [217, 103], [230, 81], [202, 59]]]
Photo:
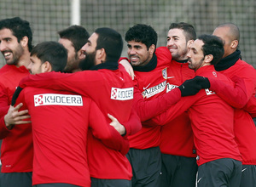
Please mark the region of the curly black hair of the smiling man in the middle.
[[137, 24], [129, 28], [125, 33], [125, 41], [142, 42], [147, 48], [154, 44], [156, 48], [157, 43], [157, 33], [154, 31], [152, 26], [147, 26], [144, 24]]

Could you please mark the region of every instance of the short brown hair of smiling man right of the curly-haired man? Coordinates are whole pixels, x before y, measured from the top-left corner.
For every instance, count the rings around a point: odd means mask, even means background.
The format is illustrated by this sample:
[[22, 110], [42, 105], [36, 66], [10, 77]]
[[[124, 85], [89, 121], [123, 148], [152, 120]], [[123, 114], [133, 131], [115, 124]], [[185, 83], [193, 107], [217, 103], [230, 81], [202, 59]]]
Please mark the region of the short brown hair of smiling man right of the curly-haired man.
[[192, 26], [188, 23], [184, 23], [184, 22], [172, 23], [171, 26], [169, 26], [169, 30], [171, 30], [171, 29], [181, 29], [181, 30], [183, 30], [187, 42], [189, 40], [195, 40], [196, 39], [195, 28], [194, 28], [194, 26]]

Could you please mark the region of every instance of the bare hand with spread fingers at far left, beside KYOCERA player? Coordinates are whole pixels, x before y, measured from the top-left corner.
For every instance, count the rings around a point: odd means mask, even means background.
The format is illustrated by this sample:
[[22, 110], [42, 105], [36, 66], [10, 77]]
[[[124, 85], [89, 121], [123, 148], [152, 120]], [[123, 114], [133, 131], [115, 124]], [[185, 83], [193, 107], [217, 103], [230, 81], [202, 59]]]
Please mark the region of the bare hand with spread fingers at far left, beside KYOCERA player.
[[19, 111], [23, 104], [20, 103], [19, 105], [10, 106], [8, 113], [4, 116], [4, 122], [6, 127], [10, 130], [14, 127], [14, 125], [26, 124], [30, 123], [31, 121], [24, 121], [25, 119], [29, 119], [30, 116], [28, 115], [28, 111]]

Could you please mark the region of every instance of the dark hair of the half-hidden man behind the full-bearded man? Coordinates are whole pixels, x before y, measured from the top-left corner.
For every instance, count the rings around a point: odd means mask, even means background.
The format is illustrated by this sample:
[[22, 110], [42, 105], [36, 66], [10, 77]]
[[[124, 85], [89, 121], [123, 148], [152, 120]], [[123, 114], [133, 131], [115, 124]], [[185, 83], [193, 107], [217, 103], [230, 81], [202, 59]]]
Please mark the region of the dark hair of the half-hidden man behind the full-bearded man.
[[90, 37], [88, 31], [83, 26], [69, 26], [64, 30], [58, 31], [61, 38], [70, 40], [75, 51], [78, 52]]

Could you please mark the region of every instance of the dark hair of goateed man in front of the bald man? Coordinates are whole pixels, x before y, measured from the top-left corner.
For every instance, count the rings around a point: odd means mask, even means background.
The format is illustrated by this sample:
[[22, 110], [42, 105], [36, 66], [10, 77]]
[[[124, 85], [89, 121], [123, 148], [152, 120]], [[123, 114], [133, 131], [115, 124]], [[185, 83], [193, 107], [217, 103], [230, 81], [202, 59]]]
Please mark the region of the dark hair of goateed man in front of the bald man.
[[204, 45], [202, 46], [204, 56], [212, 54], [213, 59], [211, 65], [216, 65], [224, 55], [223, 40], [220, 37], [213, 35], [201, 35], [198, 39], [204, 42]]

